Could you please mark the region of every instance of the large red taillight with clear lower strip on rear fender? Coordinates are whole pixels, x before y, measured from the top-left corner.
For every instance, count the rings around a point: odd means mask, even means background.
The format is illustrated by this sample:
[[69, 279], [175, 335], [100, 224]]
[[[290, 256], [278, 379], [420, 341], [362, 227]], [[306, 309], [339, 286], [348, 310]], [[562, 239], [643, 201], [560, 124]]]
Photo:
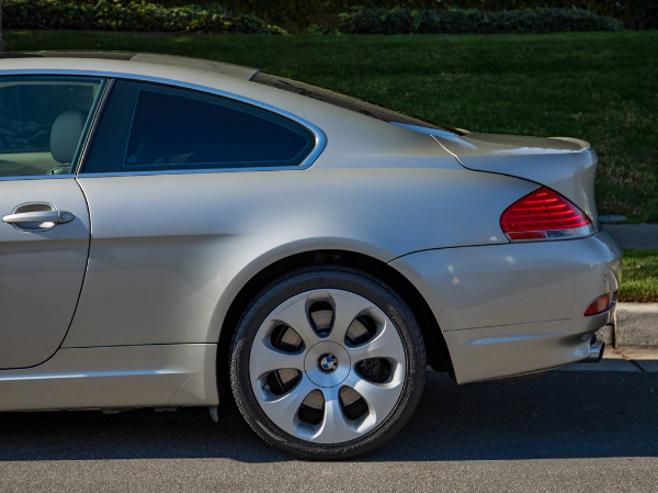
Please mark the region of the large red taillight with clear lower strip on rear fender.
[[597, 232], [580, 209], [545, 187], [507, 208], [500, 227], [511, 240], [577, 238]]

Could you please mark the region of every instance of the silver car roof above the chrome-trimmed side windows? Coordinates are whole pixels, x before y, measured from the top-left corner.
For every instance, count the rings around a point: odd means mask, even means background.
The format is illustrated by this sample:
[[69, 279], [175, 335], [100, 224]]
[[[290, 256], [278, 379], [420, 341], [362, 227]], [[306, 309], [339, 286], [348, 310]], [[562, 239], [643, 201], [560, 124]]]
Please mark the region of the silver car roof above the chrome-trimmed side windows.
[[225, 61], [190, 58], [175, 55], [158, 55], [151, 53], [134, 52], [4, 52], [2, 58], [87, 58], [101, 60], [138, 61], [157, 64], [170, 67], [191, 68], [220, 76], [251, 80], [260, 70], [242, 65], [227, 64]]

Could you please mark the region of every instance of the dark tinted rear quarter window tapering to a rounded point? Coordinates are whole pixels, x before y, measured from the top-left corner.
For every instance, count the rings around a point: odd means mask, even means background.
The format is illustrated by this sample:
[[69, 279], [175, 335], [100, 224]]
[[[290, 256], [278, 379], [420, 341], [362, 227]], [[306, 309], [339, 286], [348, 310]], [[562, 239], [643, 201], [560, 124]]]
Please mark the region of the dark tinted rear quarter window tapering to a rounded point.
[[117, 80], [83, 172], [298, 166], [315, 135], [260, 108]]

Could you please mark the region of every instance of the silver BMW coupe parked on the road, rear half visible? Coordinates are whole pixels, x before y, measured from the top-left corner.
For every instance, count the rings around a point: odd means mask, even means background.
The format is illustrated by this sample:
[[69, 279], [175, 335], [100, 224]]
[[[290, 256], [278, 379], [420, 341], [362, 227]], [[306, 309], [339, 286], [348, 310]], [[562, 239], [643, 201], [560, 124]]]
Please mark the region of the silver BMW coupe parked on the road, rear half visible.
[[248, 67], [0, 59], [0, 411], [207, 406], [347, 458], [426, 368], [603, 352], [621, 253], [583, 141], [468, 133]]

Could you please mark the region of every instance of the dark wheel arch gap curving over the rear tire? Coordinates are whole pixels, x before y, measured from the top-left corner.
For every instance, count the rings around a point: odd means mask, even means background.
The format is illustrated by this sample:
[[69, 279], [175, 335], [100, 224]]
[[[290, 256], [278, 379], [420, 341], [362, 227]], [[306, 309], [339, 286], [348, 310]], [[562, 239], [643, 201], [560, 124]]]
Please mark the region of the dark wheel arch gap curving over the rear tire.
[[228, 354], [235, 327], [250, 301], [270, 282], [292, 270], [317, 265], [334, 265], [362, 270], [390, 285], [409, 305], [420, 326], [430, 366], [452, 374], [452, 361], [439, 323], [418, 289], [404, 274], [374, 257], [348, 250], [318, 249], [276, 260], [247, 281], [234, 296], [219, 330], [217, 384], [222, 393], [228, 383]]

